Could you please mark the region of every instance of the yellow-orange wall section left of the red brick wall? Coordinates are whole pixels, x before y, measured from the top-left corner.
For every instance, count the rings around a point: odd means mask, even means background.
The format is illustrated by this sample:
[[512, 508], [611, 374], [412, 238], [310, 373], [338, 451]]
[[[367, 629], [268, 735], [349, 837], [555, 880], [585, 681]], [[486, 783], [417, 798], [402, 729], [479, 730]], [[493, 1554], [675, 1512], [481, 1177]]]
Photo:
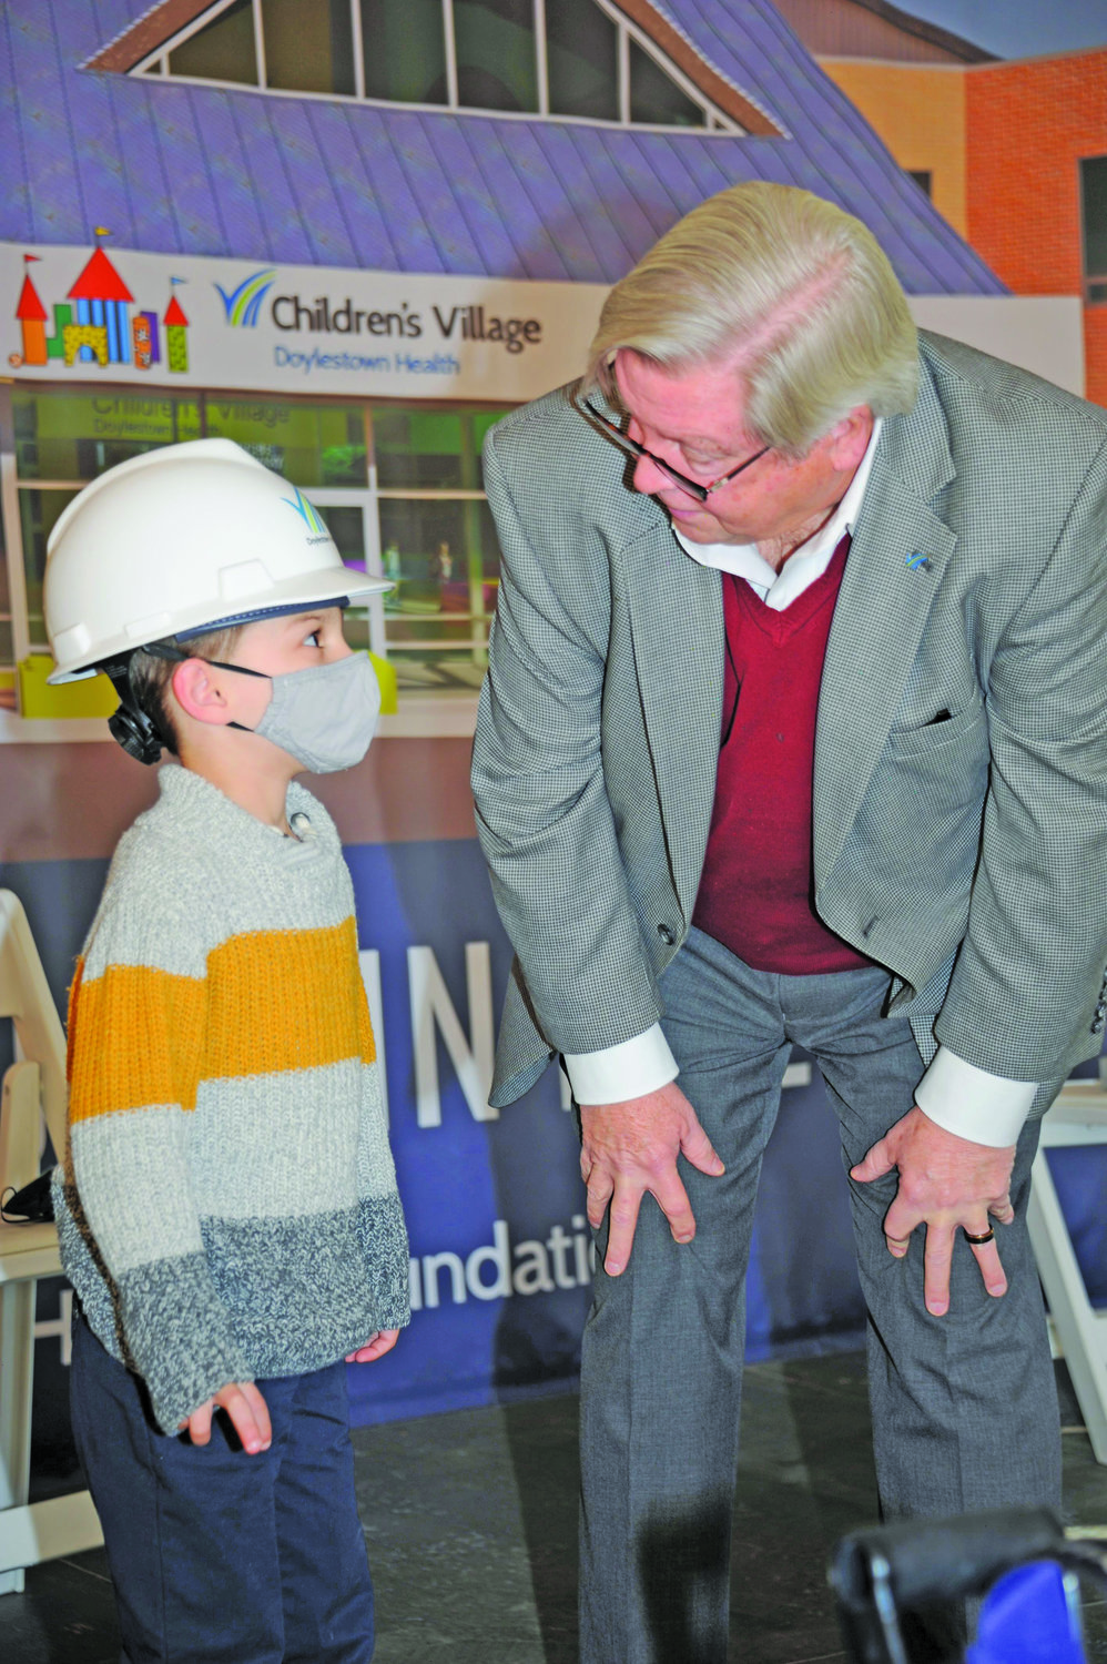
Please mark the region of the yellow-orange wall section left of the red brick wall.
[[901, 168], [932, 175], [934, 206], [967, 236], [964, 68], [859, 58], [821, 58], [819, 63], [876, 128]]

